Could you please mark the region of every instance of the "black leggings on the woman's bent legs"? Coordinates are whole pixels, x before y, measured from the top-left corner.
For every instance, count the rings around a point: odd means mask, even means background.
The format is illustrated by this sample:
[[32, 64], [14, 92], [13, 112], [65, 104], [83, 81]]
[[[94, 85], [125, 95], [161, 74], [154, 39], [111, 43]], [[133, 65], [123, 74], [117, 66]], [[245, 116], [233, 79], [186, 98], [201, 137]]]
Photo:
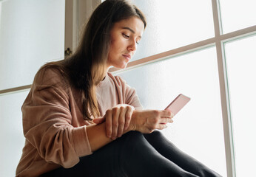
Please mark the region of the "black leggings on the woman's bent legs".
[[74, 167], [60, 167], [43, 176], [220, 176], [181, 152], [160, 131], [130, 131]]

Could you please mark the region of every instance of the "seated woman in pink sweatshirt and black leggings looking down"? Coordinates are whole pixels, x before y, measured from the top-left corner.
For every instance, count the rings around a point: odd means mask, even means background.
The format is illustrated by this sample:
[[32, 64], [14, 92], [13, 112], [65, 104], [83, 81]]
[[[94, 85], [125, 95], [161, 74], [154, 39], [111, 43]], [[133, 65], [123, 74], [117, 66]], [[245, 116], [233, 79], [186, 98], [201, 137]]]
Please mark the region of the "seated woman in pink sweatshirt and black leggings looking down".
[[142, 110], [125, 68], [146, 20], [129, 1], [92, 13], [77, 51], [36, 74], [22, 106], [25, 146], [16, 176], [219, 176], [155, 129], [172, 113]]

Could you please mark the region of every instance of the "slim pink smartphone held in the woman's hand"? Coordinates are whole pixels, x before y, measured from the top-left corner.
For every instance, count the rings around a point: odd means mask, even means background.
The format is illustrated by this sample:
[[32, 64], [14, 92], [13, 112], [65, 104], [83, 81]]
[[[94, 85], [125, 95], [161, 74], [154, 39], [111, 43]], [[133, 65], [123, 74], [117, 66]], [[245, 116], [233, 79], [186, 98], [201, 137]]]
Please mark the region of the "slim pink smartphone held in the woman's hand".
[[186, 105], [186, 103], [188, 103], [190, 100], [189, 97], [186, 97], [183, 94], [179, 94], [178, 97], [175, 98], [175, 100], [172, 101], [172, 103], [170, 103], [166, 108], [169, 111], [171, 111], [174, 115], [178, 113], [178, 111], [181, 110], [181, 108], [184, 107], [184, 105]]

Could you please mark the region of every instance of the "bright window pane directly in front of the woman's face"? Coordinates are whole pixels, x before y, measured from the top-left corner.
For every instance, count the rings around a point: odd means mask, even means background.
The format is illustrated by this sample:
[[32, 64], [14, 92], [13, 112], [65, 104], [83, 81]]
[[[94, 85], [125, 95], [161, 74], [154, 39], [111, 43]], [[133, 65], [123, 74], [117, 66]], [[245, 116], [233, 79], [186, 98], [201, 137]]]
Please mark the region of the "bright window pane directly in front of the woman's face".
[[214, 37], [211, 1], [132, 1], [147, 19], [143, 39], [133, 60]]

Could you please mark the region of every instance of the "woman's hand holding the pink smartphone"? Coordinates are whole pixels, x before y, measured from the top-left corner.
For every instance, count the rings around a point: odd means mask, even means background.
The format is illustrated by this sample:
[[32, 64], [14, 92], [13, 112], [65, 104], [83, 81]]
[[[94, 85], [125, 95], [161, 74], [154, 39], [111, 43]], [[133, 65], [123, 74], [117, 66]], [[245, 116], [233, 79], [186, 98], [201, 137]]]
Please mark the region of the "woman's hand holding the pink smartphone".
[[166, 128], [166, 123], [172, 123], [173, 114], [167, 110], [141, 110], [133, 111], [129, 131], [152, 133], [155, 129]]

